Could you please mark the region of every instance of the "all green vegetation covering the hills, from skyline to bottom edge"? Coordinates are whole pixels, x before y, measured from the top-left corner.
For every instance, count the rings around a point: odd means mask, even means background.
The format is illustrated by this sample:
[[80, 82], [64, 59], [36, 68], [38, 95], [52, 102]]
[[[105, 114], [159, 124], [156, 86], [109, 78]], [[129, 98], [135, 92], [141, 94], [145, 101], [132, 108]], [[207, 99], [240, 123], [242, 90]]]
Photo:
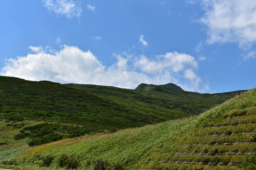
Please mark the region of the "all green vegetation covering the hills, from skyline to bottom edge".
[[0, 166], [255, 169], [256, 89], [198, 94], [174, 87], [0, 77]]

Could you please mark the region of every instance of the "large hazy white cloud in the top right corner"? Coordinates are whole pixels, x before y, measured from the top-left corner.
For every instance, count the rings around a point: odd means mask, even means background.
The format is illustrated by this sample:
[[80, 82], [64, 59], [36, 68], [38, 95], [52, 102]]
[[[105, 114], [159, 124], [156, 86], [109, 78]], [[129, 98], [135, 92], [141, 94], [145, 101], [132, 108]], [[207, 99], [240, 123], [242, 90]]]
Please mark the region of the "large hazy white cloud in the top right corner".
[[208, 26], [208, 43], [256, 41], [256, 1], [202, 0], [206, 14], [201, 22]]

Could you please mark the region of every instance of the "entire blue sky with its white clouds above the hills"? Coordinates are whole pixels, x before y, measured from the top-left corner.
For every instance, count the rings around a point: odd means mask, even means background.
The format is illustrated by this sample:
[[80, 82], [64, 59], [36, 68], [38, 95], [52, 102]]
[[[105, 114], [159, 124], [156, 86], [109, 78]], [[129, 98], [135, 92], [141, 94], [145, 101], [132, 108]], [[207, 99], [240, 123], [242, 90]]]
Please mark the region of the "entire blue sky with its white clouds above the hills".
[[129, 89], [252, 89], [255, 8], [253, 0], [2, 0], [0, 73]]

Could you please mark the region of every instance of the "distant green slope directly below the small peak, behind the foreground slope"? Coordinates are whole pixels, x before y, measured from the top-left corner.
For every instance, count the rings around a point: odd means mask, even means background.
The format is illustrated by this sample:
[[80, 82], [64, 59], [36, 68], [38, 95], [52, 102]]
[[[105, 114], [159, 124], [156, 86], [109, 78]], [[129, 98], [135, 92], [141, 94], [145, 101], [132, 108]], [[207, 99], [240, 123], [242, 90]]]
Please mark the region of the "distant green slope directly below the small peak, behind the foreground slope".
[[122, 103], [128, 108], [133, 108], [142, 115], [154, 113], [154, 115], [161, 116], [163, 120], [198, 115], [242, 93], [242, 91], [233, 91], [223, 94], [199, 94], [183, 91], [182, 89], [170, 89], [166, 85], [152, 85], [154, 88], [161, 89], [161, 92], [83, 84], [66, 84], [66, 86], [81, 91], [90, 91], [98, 96], [109, 98], [116, 103]]

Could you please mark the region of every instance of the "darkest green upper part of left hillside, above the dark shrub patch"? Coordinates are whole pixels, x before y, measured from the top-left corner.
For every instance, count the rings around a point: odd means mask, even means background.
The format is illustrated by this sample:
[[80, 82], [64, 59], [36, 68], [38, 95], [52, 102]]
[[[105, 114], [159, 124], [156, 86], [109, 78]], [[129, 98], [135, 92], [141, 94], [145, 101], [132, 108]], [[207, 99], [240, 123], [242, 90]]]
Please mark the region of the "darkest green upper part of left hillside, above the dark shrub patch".
[[113, 101], [50, 81], [0, 77], [0, 91], [0, 116], [6, 120], [44, 120], [105, 128], [127, 128], [144, 125], [141, 122], [146, 121]]

